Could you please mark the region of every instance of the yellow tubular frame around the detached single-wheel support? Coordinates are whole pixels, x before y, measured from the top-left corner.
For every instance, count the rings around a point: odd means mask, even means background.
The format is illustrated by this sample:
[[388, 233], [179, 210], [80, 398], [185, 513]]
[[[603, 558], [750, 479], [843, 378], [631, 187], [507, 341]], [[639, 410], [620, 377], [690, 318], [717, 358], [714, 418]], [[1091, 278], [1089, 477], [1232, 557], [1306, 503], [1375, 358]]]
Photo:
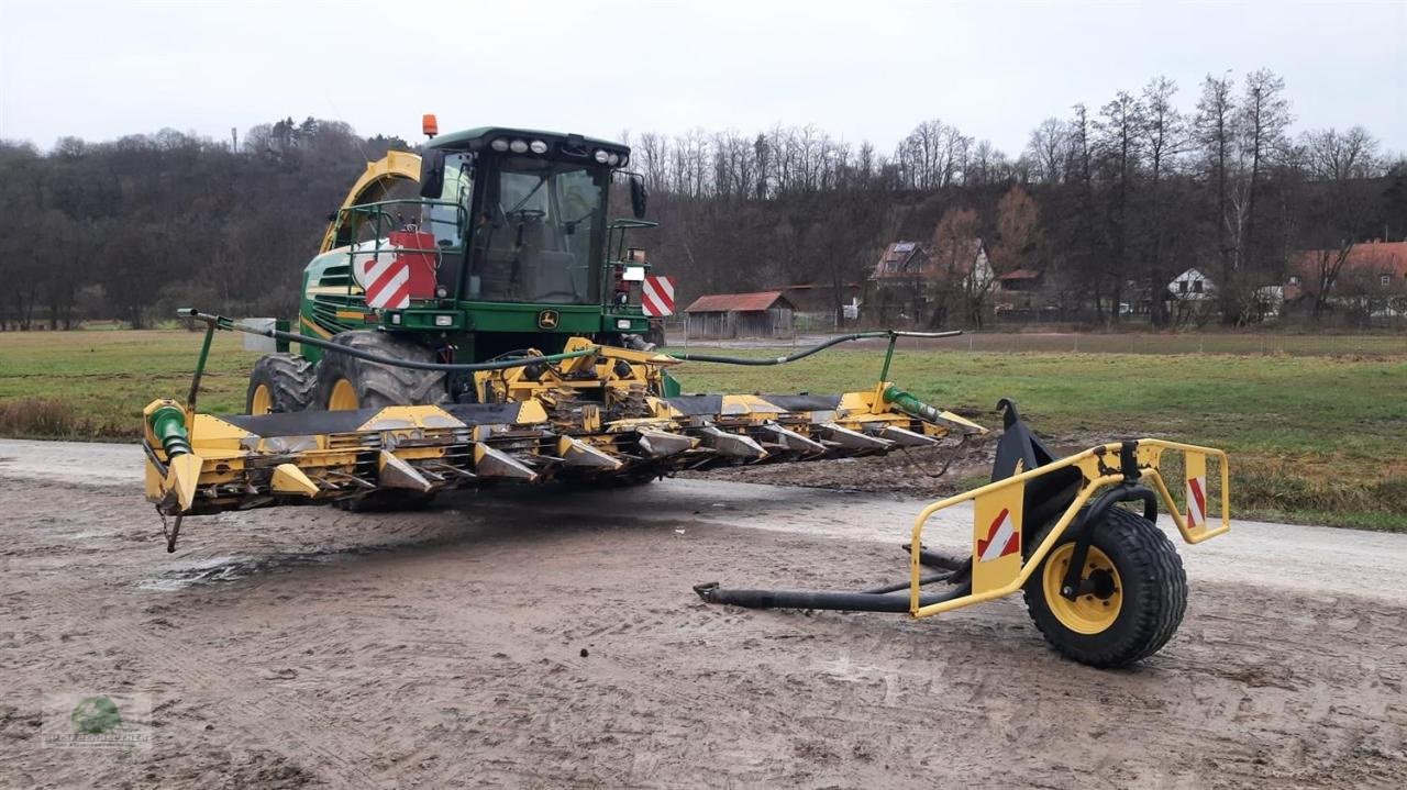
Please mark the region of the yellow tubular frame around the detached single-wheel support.
[[[1204, 540], [1214, 538], [1231, 529], [1231, 467], [1227, 461], [1227, 454], [1223, 450], [1216, 450], [1213, 447], [1199, 447], [1196, 444], [1182, 444], [1178, 441], [1166, 441], [1162, 439], [1140, 439], [1137, 440], [1137, 458], [1138, 467], [1141, 468], [1140, 479], [1148, 478], [1154, 484], [1154, 489], [1162, 498], [1164, 507], [1168, 514], [1172, 516], [1172, 522], [1178, 526], [1178, 531], [1182, 533], [1182, 540], [1189, 544], [1197, 544]], [[1180, 453], [1202, 453], [1209, 457], [1217, 458], [1221, 467], [1221, 526], [1216, 529], [1188, 529], [1186, 517], [1178, 510], [1176, 503], [1172, 499], [1172, 493], [1168, 491], [1168, 485], [1164, 482], [1162, 475], [1158, 472], [1158, 462], [1162, 457], [1164, 450], [1175, 450]], [[1079, 509], [1085, 506], [1086, 502], [1102, 488], [1124, 481], [1121, 474], [1102, 474], [1107, 472], [1104, 467], [1104, 458], [1113, 457], [1119, 458], [1120, 444], [1110, 443], [1100, 447], [1092, 447], [1083, 453], [1061, 458], [1059, 461], [1052, 461], [1044, 467], [1037, 467], [1034, 470], [1021, 472], [1019, 475], [1009, 477], [1002, 481], [996, 481], [981, 488], [974, 488], [965, 493], [957, 496], [950, 496], [940, 502], [929, 505], [919, 512], [917, 519], [913, 522], [913, 536], [909, 543], [909, 614], [912, 617], [931, 617], [934, 614], [941, 614], [944, 611], [951, 611], [954, 609], [962, 609], [964, 606], [972, 606], [974, 603], [982, 603], [985, 600], [995, 600], [999, 597], [1006, 597], [1017, 590], [1020, 590], [1026, 581], [1036, 572], [1045, 555], [1050, 554], [1055, 543], [1059, 541], [1061, 536], [1069, 527], [1071, 522], [1079, 513]], [[1023, 485], [1026, 481], [1036, 479], [1041, 475], [1047, 475], [1057, 470], [1064, 470], [1067, 467], [1079, 467], [1085, 475], [1085, 482], [1081, 485], [1079, 492], [1075, 495], [1075, 500], [1071, 502], [1065, 513], [1061, 514], [1055, 527], [1050, 530], [1045, 540], [1036, 547], [1030, 558], [1021, 564], [1021, 571], [1017, 576], [1002, 588], [969, 593], [962, 597], [955, 597], [953, 600], [944, 600], [940, 603], [930, 603], [929, 606], [919, 606], [919, 576], [922, 565], [919, 562], [919, 552], [923, 544], [923, 526], [930, 517], [938, 510], [951, 507], [961, 502], [971, 502], [979, 496], [1002, 491], [1013, 485]], [[1024, 533], [1021, 540], [1024, 543]], [[976, 562], [976, 557], [972, 558]]]

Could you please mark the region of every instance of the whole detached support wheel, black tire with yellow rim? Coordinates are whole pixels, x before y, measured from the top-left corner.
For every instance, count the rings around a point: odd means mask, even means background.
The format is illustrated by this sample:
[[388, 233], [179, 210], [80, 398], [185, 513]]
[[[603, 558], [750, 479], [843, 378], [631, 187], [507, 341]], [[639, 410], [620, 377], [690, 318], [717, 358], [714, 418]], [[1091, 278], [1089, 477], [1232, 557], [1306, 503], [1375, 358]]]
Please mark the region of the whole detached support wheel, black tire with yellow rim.
[[[1047, 527], [1029, 544], [1040, 543]], [[1188, 575], [1172, 541], [1147, 519], [1110, 507], [1090, 524], [1088, 576], [1102, 589], [1069, 602], [1059, 581], [1074, 554], [1067, 533], [1026, 582], [1026, 609], [1057, 651], [1099, 668], [1127, 666], [1168, 644], [1188, 609]], [[1062, 564], [1064, 561], [1064, 564]]]

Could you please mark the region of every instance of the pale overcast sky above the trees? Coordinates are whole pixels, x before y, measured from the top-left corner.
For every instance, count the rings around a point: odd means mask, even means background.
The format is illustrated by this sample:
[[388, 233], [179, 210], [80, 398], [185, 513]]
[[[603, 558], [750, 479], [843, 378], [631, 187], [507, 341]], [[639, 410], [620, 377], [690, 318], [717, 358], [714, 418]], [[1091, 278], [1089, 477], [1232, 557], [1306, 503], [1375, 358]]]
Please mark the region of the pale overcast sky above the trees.
[[938, 117], [1016, 155], [1150, 77], [1269, 67], [1296, 129], [1407, 152], [1407, 0], [1379, 3], [72, 3], [0, 0], [0, 138], [293, 115], [419, 139], [484, 124], [597, 136], [816, 124], [889, 152]]

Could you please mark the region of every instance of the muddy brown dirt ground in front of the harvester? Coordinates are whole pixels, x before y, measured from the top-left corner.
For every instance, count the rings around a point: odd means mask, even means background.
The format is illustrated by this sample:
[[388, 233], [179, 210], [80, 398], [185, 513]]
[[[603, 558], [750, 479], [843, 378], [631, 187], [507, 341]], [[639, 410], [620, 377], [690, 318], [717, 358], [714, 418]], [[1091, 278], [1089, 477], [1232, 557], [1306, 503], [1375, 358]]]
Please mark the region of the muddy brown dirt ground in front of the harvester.
[[[3, 787], [1400, 787], [1407, 773], [1407, 536], [1238, 524], [1179, 547], [1182, 630], [1107, 672], [1047, 649], [1019, 600], [912, 621], [706, 606], [689, 589], [902, 576], [896, 544], [923, 505], [903, 495], [519, 489], [418, 514], [193, 519], [166, 554], [128, 479], [138, 464], [131, 447], [0, 443]], [[41, 697], [73, 689], [149, 696], [151, 748], [41, 744]]]

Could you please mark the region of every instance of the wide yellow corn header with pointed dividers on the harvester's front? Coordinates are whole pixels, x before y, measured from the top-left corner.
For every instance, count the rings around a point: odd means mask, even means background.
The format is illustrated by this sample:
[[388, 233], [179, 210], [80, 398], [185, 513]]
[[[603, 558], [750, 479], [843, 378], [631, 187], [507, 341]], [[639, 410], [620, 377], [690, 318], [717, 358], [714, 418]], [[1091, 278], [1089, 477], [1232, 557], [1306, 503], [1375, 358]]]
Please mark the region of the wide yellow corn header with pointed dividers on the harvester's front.
[[[207, 320], [210, 332], [277, 333], [184, 315]], [[865, 455], [985, 433], [884, 381], [841, 395], [664, 396], [663, 371], [678, 363], [573, 337], [560, 354], [429, 365], [469, 368], [473, 403], [215, 416], [160, 399], [144, 419], [146, 495], [167, 516], [404, 502], [494, 482], [644, 482], [688, 468]]]

